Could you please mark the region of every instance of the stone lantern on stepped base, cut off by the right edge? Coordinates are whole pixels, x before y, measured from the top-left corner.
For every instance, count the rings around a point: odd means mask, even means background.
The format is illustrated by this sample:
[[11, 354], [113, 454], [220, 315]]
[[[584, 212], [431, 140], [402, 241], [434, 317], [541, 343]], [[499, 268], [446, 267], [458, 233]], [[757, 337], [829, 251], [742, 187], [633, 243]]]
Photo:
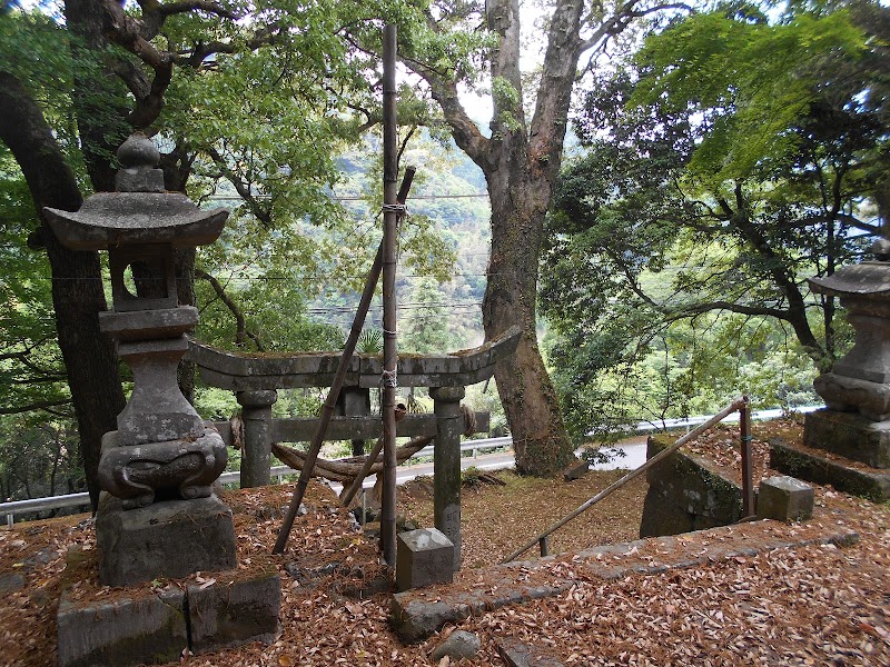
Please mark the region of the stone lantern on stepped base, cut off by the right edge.
[[860, 496], [890, 498], [890, 242], [877, 261], [811, 278], [813, 291], [838, 297], [856, 331], [852, 349], [813, 382], [825, 408], [807, 415], [803, 449], [773, 442], [771, 466]]

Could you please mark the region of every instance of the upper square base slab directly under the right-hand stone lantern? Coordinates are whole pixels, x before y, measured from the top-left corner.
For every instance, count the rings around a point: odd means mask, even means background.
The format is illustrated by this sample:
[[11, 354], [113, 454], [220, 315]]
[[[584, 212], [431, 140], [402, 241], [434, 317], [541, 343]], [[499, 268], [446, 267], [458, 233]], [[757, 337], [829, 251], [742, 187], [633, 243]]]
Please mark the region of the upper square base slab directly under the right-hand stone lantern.
[[870, 421], [857, 412], [809, 412], [803, 444], [872, 468], [890, 468], [890, 422]]

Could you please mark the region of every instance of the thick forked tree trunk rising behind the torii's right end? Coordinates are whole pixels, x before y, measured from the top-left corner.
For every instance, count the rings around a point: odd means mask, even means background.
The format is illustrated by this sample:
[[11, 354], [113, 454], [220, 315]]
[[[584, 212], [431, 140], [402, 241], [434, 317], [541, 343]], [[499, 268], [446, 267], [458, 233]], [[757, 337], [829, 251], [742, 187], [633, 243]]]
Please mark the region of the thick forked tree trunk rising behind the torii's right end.
[[581, 3], [568, 0], [555, 9], [531, 128], [526, 127], [518, 68], [518, 0], [490, 0], [487, 10], [488, 28], [500, 37], [492, 77], [508, 83], [515, 94], [493, 96], [492, 140], [487, 161], [482, 163], [492, 202], [483, 323], [487, 339], [513, 325], [523, 330], [515, 355], [495, 369], [497, 390], [513, 436], [516, 469], [554, 475], [574, 454], [537, 347], [537, 266], [578, 58]]

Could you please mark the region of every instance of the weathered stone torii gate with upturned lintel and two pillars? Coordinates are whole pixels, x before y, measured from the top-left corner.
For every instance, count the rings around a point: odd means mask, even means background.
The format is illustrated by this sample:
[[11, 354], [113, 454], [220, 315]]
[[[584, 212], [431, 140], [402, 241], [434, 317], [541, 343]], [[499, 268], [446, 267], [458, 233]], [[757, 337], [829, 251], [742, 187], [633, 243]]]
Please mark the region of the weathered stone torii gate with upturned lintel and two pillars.
[[[461, 399], [466, 387], [487, 380], [495, 364], [512, 355], [518, 344], [517, 327], [481, 347], [444, 355], [403, 355], [398, 359], [398, 382], [403, 387], [428, 387], [433, 415], [409, 415], [397, 425], [399, 436], [434, 436], [434, 522], [454, 544], [455, 569], [461, 566], [461, 435], [465, 431]], [[211, 387], [236, 394], [243, 407], [244, 452], [241, 487], [270, 482], [273, 442], [310, 440], [317, 418], [273, 419], [271, 406], [278, 389], [329, 387], [339, 352], [241, 354], [189, 341], [188, 358], [201, 379]], [[367, 414], [368, 392], [378, 387], [382, 357], [355, 355], [340, 395], [345, 415], [333, 417], [329, 440], [364, 440], [380, 437], [379, 416]], [[478, 414], [476, 429], [486, 430], [487, 414]], [[231, 442], [228, 422], [217, 425], [224, 440]]]

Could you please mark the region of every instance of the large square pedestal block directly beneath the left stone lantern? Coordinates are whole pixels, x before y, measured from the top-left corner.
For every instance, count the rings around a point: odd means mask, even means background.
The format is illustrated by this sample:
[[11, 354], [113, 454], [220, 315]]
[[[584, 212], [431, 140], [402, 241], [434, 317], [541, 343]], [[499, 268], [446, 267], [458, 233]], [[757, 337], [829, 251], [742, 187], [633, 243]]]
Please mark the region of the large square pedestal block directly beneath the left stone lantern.
[[102, 494], [96, 542], [99, 580], [106, 586], [237, 566], [231, 510], [216, 496], [125, 510], [120, 499]]

